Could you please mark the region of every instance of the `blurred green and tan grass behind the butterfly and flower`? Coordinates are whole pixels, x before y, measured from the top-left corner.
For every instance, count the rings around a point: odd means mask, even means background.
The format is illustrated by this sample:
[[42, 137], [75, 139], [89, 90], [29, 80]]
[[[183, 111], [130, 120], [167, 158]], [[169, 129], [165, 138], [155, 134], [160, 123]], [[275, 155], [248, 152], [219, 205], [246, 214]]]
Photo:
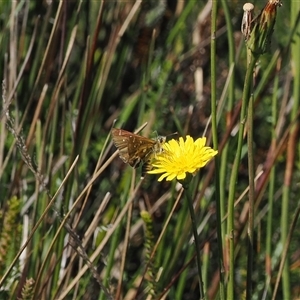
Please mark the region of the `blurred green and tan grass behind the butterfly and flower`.
[[[221, 1], [212, 19], [204, 1], [0, 2], [1, 299], [199, 299], [180, 185], [154, 175], [140, 181], [141, 170], [117, 157], [109, 133], [114, 120], [131, 131], [148, 122], [144, 136], [205, 135], [212, 145], [211, 95], [218, 101], [218, 176], [210, 164], [190, 187], [204, 290], [207, 299], [224, 298], [230, 266], [236, 299], [246, 295], [246, 137], [233, 232], [227, 224], [247, 69], [243, 4]], [[257, 1], [256, 14], [264, 4]], [[278, 9], [272, 43], [256, 67], [248, 299], [300, 297], [300, 231], [290, 228], [299, 214], [299, 9], [296, 1]], [[150, 215], [142, 218], [144, 210]]]

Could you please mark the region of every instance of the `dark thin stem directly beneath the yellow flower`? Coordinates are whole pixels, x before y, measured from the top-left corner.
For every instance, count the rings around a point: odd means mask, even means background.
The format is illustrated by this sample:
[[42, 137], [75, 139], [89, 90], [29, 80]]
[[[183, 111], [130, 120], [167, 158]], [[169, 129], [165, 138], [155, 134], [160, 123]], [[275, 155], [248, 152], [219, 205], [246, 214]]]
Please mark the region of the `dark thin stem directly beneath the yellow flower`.
[[191, 190], [189, 186], [185, 186], [185, 196], [188, 202], [190, 215], [191, 215], [191, 221], [192, 221], [192, 228], [193, 228], [193, 234], [195, 239], [195, 247], [196, 247], [196, 258], [197, 258], [197, 267], [198, 267], [198, 275], [199, 275], [199, 291], [200, 291], [200, 299], [205, 299], [204, 296], [204, 289], [203, 289], [203, 280], [202, 280], [202, 272], [201, 272], [201, 259], [200, 259], [200, 242], [197, 232], [197, 223], [196, 223], [196, 216], [193, 206], [193, 200], [191, 197]]

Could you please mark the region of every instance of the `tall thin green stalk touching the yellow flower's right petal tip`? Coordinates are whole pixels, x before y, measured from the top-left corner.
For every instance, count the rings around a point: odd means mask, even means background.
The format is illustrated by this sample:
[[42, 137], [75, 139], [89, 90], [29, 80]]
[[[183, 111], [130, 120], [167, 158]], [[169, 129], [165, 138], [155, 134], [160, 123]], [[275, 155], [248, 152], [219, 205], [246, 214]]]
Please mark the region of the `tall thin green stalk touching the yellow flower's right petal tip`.
[[[214, 149], [218, 149], [217, 130], [217, 63], [216, 63], [216, 30], [217, 30], [217, 1], [212, 2], [211, 12], [211, 115], [212, 115], [212, 136]], [[218, 264], [220, 274], [220, 299], [225, 299], [224, 292], [224, 262], [222, 245], [222, 205], [220, 201], [220, 159], [215, 156], [215, 195], [216, 195], [216, 215], [217, 215], [217, 240], [218, 240]]]

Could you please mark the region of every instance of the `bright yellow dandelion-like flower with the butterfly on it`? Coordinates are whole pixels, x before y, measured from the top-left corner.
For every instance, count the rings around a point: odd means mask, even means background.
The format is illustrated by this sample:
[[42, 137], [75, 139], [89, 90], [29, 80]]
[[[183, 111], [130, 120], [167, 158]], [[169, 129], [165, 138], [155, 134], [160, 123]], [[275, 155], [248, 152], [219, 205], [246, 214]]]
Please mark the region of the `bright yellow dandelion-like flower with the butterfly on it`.
[[210, 147], [205, 147], [206, 138], [199, 138], [196, 141], [189, 135], [184, 141], [170, 140], [163, 145], [164, 151], [156, 154], [155, 161], [152, 164], [153, 170], [148, 171], [149, 174], [163, 173], [158, 181], [164, 178], [171, 181], [176, 178], [182, 181], [190, 173], [195, 173], [204, 167], [214, 157], [218, 151]]

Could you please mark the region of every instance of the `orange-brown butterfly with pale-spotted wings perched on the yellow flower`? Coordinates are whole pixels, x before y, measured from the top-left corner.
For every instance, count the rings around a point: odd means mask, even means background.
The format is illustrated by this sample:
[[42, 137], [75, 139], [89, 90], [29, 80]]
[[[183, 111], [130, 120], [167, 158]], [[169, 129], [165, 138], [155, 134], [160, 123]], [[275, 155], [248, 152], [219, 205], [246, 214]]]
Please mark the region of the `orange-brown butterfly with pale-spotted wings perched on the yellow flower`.
[[149, 139], [118, 128], [112, 128], [111, 134], [113, 142], [119, 150], [119, 156], [124, 163], [133, 168], [143, 164], [142, 176], [151, 169], [150, 161], [153, 156], [163, 152], [162, 146], [166, 141], [165, 136]]

